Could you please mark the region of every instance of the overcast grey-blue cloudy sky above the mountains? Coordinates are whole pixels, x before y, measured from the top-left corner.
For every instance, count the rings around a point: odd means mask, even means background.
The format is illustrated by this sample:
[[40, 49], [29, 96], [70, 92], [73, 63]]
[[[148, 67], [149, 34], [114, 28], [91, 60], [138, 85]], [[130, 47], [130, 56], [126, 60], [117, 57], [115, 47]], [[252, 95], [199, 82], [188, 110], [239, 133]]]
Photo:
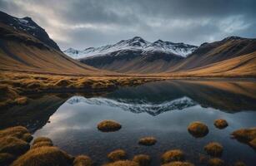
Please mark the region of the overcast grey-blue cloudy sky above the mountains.
[[256, 37], [255, 0], [0, 0], [0, 10], [32, 17], [62, 50], [134, 36], [193, 45]]

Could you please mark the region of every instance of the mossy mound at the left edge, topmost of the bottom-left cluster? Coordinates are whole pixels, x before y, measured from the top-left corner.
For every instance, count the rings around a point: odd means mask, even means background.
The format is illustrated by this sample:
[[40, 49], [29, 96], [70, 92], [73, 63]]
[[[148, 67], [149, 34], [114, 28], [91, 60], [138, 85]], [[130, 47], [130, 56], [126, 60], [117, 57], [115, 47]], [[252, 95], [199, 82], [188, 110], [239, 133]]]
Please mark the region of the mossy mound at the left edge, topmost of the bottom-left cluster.
[[8, 129], [0, 130], [0, 138], [11, 136], [18, 139], [22, 139], [26, 142], [30, 142], [33, 136], [29, 133], [28, 129], [23, 126], [11, 127]]

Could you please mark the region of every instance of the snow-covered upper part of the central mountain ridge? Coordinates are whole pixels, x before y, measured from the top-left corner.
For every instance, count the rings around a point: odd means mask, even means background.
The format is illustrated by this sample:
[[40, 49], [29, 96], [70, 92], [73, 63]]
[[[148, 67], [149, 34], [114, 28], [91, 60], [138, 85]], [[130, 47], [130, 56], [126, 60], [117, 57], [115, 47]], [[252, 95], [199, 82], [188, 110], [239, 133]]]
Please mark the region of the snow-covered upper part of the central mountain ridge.
[[89, 47], [82, 51], [69, 48], [63, 51], [74, 59], [82, 59], [89, 56], [106, 56], [115, 51], [160, 51], [166, 54], [186, 57], [196, 50], [198, 46], [192, 46], [184, 43], [173, 43], [170, 41], [145, 41], [142, 37], [133, 37], [128, 40], [122, 40], [113, 45], [100, 46], [97, 48]]

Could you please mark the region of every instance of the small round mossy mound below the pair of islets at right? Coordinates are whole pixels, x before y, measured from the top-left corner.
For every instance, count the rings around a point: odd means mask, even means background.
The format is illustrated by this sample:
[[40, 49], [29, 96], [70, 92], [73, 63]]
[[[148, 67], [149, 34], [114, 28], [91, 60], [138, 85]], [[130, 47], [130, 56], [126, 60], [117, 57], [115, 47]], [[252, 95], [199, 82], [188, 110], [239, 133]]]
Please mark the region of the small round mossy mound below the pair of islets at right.
[[221, 156], [223, 153], [223, 146], [219, 143], [212, 142], [204, 146], [204, 150], [211, 156]]

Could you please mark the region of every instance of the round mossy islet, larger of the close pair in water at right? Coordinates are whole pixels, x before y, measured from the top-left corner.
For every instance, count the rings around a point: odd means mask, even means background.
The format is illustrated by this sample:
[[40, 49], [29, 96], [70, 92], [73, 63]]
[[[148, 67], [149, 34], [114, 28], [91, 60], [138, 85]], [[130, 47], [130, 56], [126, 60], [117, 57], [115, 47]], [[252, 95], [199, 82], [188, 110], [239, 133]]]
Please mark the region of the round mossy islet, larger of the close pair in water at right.
[[208, 134], [208, 126], [202, 122], [195, 121], [188, 125], [188, 132], [196, 138], [204, 137]]

